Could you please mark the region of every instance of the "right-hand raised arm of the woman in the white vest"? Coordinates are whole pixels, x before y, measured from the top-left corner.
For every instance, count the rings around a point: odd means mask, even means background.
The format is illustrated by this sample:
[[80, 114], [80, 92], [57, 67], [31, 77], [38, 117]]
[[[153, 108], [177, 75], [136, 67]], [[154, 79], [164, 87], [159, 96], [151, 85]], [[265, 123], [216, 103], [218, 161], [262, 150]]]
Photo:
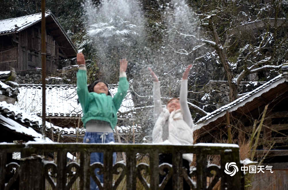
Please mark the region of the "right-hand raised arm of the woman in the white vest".
[[180, 105], [181, 105], [181, 110], [183, 113], [183, 119], [184, 121], [187, 123], [188, 126], [190, 126], [192, 129], [194, 128], [194, 123], [192, 120], [192, 116], [189, 110], [189, 106], [187, 104], [187, 94], [188, 94], [188, 82], [187, 82], [187, 78], [189, 75], [189, 71], [191, 69], [192, 65], [189, 65], [184, 73], [183, 73], [183, 77], [181, 80], [181, 87], [180, 87]]

